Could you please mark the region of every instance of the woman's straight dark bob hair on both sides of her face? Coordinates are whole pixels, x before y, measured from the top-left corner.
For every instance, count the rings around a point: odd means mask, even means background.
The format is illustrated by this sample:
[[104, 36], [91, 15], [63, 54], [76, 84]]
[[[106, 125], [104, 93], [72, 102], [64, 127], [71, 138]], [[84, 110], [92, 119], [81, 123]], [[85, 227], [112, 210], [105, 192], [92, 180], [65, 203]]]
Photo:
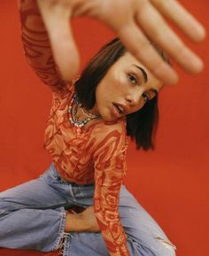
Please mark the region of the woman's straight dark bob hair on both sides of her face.
[[[169, 60], [162, 50], [154, 43], [153, 47], [159, 55], [169, 64]], [[119, 38], [114, 38], [105, 44], [98, 53], [91, 58], [89, 65], [81, 73], [81, 77], [75, 82], [75, 91], [81, 105], [90, 110], [96, 103], [96, 89], [98, 83], [104, 78], [109, 68], [127, 50], [120, 43]], [[159, 122], [158, 95], [148, 101], [137, 112], [127, 115], [127, 135], [135, 141], [136, 148], [149, 150], [154, 148], [153, 138]]]

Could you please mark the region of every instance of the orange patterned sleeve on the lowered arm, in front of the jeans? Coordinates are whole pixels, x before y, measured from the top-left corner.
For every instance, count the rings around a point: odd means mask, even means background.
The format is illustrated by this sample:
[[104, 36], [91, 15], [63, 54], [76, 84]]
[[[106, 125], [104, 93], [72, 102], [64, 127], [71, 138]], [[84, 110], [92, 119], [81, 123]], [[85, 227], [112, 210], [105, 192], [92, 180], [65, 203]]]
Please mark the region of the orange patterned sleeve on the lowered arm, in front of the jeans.
[[128, 256], [126, 234], [120, 223], [120, 186], [126, 173], [127, 143], [112, 130], [97, 144], [94, 206], [97, 222], [111, 256]]

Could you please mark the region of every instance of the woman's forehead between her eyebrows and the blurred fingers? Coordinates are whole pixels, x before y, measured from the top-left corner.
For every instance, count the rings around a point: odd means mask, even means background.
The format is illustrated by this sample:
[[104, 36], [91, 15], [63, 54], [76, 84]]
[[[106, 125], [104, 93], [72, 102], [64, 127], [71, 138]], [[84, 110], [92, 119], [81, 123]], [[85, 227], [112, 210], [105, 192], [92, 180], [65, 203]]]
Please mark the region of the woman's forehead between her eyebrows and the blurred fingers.
[[152, 87], [156, 87], [158, 89], [162, 89], [163, 83], [159, 81], [151, 72], [144, 66], [137, 58], [135, 58], [131, 53], [128, 51], [119, 58], [119, 60], [115, 63], [116, 66], [119, 68], [129, 68], [129, 69], [137, 69], [135, 66], [139, 66], [143, 68], [145, 73], [147, 74], [148, 81], [146, 82], [147, 85], [151, 84]]

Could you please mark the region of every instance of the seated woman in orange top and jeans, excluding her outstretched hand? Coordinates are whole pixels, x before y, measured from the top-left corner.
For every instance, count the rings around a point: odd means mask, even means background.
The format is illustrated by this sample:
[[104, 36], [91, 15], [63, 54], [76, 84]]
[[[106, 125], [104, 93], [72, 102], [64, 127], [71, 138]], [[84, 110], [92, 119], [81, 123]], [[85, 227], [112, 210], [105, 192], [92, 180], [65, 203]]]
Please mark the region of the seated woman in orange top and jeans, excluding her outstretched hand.
[[[0, 246], [63, 249], [65, 256], [174, 255], [174, 245], [122, 185], [128, 136], [138, 148], [153, 147], [162, 83], [114, 39], [66, 84], [35, 1], [22, 1], [20, 16], [27, 61], [52, 89], [44, 147], [53, 164], [39, 179], [0, 194]], [[74, 215], [67, 211], [74, 206], [94, 206], [97, 222], [92, 207]], [[101, 233], [92, 232], [97, 224]]]

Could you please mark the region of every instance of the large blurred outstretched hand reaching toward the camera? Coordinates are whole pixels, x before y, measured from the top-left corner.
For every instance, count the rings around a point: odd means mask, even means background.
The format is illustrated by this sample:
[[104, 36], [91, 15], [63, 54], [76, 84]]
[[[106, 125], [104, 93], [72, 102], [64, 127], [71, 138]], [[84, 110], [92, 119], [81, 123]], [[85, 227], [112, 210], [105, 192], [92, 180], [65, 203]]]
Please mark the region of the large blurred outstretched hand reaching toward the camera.
[[166, 84], [178, 76], [149, 43], [148, 38], [186, 72], [196, 74], [203, 62], [169, 27], [165, 16], [193, 42], [205, 38], [205, 29], [176, 0], [37, 0], [49, 32], [54, 58], [64, 80], [71, 81], [79, 68], [79, 53], [69, 20], [87, 16], [110, 27], [135, 58]]

